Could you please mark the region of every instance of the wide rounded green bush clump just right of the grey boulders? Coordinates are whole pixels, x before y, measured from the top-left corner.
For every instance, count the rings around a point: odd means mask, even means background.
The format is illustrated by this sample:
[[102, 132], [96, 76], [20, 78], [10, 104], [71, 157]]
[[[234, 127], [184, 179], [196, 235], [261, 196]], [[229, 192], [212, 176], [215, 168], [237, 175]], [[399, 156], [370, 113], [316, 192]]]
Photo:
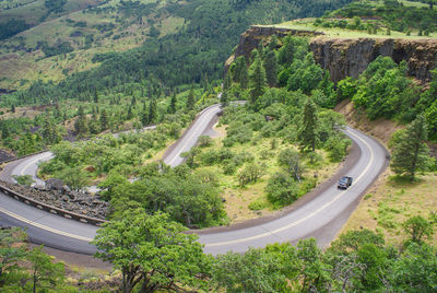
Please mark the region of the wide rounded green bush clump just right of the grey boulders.
[[137, 202], [151, 214], [166, 212], [172, 220], [189, 227], [224, 221], [223, 202], [212, 176], [198, 176], [182, 166], [167, 169], [156, 164], [145, 165], [140, 174], [142, 178], [132, 184], [114, 176], [116, 180], [105, 183], [109, 186], [105, 197], [110, 198], [113, 218], [121, 216], [129, 202]]

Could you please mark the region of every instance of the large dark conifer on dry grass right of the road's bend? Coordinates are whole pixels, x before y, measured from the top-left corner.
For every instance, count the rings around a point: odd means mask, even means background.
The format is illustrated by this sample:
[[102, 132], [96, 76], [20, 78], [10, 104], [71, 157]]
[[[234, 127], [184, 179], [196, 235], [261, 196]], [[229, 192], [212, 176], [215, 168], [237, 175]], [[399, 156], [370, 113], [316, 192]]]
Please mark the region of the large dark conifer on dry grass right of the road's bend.
[[423, 115], [412, 121], [404, 132], [393, 142], [391, 168], [397, 174], [409, 174], [411, 179], [417, 171], [424, 171], [429, 150], [424, 143], [427, 140], [427, 126]]

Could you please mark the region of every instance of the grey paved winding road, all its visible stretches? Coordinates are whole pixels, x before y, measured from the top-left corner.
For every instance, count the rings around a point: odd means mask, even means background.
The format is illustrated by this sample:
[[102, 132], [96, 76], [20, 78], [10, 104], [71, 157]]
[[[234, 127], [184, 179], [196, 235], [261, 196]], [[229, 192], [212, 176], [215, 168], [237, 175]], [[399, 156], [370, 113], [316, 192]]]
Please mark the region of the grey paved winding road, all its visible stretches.
[[[184, 161], [180, 153], [189, 151], [198, 138], [208, 132], [220, 112], [220, 105], [201, 112], [184, 136], [167, 150], [163, 161], [170, 166], [179, 165]], [[347, 171], [347, 175], [354, 177], [347, 190], [336, 189], [336, 180], [333, 180], [317, 197], [275, 219], [261, 219], [243, 226], [196, 231], [199, 241], [205, 245], [204, 251], [213, 255], [229, 250], [244, 253], [249, 247], [263, 247], [275, 242], [296, 243], [311, 236], [318, 239], [319, 246], [324, 246], [334, 239], [363, 194], [387, 166], [388, 153], [381, 144], [349, 127], [345, 133], [354, 141], [354, 148], [359, 153]], [[14, 161], [5, 167], [0, 178], [11, 180], [13, 174], [35, 176], [37, 163], [50, 157], [51, 154], [45, 152]], [[0, 218], [2, 225], [26, 227], [32, 242], [79, 254], [91, 255], [96, 251], [88, 242], [98, 227], [28, 207], [1, 192]]]

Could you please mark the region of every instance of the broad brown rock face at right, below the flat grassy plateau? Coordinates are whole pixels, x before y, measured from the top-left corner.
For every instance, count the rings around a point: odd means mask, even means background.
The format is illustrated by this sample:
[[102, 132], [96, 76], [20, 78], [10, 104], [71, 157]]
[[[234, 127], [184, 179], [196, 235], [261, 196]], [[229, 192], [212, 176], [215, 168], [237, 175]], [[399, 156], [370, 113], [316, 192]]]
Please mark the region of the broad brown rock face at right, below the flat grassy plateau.
[[437, 67], [437, 39], [323, 36], [310, 42], [310, 50], [334, 82], [345, 77], [357, 78], [378, 56], [389, 56], [397, 63], [405, 60], [408, 74], [423, 83], [429, 82], [429, 71]]

